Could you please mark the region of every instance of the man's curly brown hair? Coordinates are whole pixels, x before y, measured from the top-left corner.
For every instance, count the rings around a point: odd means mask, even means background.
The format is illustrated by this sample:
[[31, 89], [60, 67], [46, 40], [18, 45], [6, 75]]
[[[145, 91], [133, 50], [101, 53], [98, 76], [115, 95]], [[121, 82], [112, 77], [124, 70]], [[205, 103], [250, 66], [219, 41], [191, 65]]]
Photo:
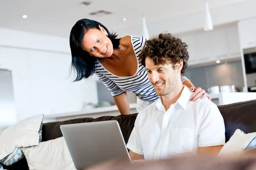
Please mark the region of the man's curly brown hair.
[[188, 66], [189, 52], [187, 49], [188, 45], [186, 42], [182, 42], [180, 38], [176, 38], [169, 33], [159, 34], [158, 37], [145, 42], [144, 48], [139, 55], [140, 63], [145, 67], [145, 59], [150, 57], [155, 65], [164, 65], [171, 62], [173, 69], [175, 69], [175, 64], [180, 63], [182, 59], [183, 67], [180, 72], [183, 76]]

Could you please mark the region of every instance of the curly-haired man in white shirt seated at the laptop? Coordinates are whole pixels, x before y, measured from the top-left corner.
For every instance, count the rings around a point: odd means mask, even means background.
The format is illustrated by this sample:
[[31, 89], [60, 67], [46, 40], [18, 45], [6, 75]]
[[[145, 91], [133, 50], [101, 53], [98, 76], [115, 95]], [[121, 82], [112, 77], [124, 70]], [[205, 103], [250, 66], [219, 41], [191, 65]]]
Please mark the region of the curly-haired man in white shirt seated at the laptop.
[[192, 102], [182, 85], [189, 54], [171, 34], [148, 40], [140, 62], [160, 98], [141, 111], [127, 147], [132, 160], [166, 159], [180, 153], [217, 155], [225, 144], [224, 120], [208, 99]]

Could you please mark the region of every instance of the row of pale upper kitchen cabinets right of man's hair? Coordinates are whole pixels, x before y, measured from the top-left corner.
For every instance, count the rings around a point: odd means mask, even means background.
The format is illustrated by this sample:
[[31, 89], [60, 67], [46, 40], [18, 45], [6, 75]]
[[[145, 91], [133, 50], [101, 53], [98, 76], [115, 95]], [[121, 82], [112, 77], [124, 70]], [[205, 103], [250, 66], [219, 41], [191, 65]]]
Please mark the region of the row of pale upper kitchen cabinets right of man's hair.
[[180, 35], [189, 45], [189, 65], [241, 57], [237, 26]]

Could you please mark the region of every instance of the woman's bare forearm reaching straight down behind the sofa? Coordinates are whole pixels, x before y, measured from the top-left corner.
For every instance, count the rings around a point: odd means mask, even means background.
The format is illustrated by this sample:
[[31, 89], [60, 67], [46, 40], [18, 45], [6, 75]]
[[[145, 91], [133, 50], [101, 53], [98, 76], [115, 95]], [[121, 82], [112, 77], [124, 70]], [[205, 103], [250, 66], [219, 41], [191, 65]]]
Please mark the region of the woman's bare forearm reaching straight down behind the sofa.
[[129, 107], [129, 101], [126, 92], [114, 96], [114, 101], [116, 102], [116, 106], [119, 110], [119, 112], [123, 115], [130, 114], [130, 107]]

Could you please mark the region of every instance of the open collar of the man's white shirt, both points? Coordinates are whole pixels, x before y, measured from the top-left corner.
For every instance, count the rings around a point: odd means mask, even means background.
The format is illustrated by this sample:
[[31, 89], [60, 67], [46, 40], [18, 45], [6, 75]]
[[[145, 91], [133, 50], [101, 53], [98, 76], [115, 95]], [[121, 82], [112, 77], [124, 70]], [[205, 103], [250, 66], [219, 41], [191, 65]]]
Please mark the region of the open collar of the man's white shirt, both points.
[[[189, 98], [190, 98], [192, 92], [189, 90], [189, 88], [186, 87], [186, 85], [183, 85], [183, 87], [184, 88], [181, 92], [181, 95], [180, 95], [179, 99], [177, 100], [177, 103], [179, 103], [180, 106], [183, 109], [186, 109], [186, 105], [189, 102]], [[165, 111], [165, 107], [163, 106], [161, 97], [158, 98], [157, 103], [156, 103], [156, 107], [160, 111]]]

